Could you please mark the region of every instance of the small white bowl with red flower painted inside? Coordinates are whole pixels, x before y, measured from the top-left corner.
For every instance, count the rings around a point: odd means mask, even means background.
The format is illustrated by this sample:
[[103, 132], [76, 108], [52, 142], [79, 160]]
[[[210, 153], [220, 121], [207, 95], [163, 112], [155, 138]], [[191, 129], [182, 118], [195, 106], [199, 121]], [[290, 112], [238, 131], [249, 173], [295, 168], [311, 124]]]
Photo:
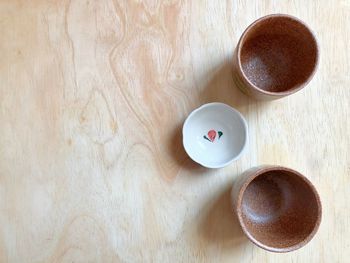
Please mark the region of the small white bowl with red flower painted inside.
[[191, 112], [182, 136], [185, 151], [192, 160], [207, 168], [221, 168], [244, 152], [248, 125], [237, 110], [214, 102]]

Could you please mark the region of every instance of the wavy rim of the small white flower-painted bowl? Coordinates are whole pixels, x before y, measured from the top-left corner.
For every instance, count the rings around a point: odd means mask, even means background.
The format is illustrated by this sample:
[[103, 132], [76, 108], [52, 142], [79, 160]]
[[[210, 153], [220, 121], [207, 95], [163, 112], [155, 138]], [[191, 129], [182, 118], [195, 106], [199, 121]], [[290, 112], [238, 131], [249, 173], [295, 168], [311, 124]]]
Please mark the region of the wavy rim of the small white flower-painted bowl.
[[[240, 150], [239, 154], [233, 156], [230, 160], [228, 160], [227, 162], [224, 162], [224, 163], [221, 163], [221, 164], [218, 164], [218, 165], [210, 165], [210, 164], [207, 164], [205, 162], [202, 162], [196, 158], [194, 158], [191, 154], [190, 154], [190, 151], [189, 149], [187, 148], [187, 145], [185, 143], [185, 137], [186, 137], [186, 133], [185, 133], [185, 128], [187, 127], [188, 123], [191, 121], [191, 118], [199, 111], [203, 110], [204, 108], [210, 108], [210, 107], [215, 107], [215, 106], [220, 106], [220, 107], [225, 107], [227, 109], [229, 109], [233, 114], [237, 115], [239, 120], [243, 123], [243, 126], [244, 126], [244, 135], [245, 135], [245, 140], [244, 140], [244, 144], [243, 144], [243, 147], [242, 149]], [[185, 149], [185, 152], [187, 153], [187, 155], [193, 160], [195, 161], [196, 163], [206, 167], [206, 168], [211, 168], [211, 169], [215, 169], [215, 168], [223, 168], [227, 165], [229, 165], [230, 163], [238, 160], [242, 154], [245, 152], [246, 148], [247, 148], [247, 144], [248, 144], [248, 124], [247, 124], [247, 121], [246, 119], [243, 117], [243, 115], [238, 111], [236, 110], [235, 108], [225, 104], [225, 103], [222, 103], [222, 102], [210, 102], [210, 103], [206, 103], [206, 104], [203, 104], [201, 106], [199, 106], [198, 108], [194, 109], [186, 118], [183, 126], [182, 126], [182, 144], [183, 144], [183, 147]]]

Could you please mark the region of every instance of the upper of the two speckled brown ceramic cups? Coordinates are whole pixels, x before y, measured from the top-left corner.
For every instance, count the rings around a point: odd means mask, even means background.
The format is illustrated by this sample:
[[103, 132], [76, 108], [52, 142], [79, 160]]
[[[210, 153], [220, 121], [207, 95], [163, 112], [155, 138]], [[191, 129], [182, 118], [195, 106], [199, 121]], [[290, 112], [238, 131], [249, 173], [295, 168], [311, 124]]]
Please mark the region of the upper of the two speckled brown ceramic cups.
[[233, 78], [251, 97], [279, 99], [311, 80], [318, 57], [316, 38], [304, 22], [289, 15], [268, 15], [242, 34], [233, 56]]

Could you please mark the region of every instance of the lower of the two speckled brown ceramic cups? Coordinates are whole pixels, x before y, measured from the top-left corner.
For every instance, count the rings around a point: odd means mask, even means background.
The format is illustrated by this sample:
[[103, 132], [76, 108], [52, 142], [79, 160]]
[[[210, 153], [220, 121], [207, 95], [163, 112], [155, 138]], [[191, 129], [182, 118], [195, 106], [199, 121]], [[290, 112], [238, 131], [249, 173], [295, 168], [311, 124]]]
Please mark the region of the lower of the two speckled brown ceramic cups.
[[289, 168], [265, 165], [249, 169], [234, 183], [231, 197], [243, 232], [268, 251], [289, 252], [304, 246], [321, 222], [315, 187]]

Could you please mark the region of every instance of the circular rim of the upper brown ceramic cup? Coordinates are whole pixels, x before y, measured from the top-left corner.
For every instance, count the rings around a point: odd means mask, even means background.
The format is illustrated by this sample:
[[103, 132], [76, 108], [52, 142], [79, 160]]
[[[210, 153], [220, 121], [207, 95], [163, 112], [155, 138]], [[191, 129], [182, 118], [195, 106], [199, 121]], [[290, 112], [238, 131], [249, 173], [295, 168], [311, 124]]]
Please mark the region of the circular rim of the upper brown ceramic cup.
[[[286, 91], [282, 91], [282, 92], [273, 92], [273, 91], [266, 91], [263, 90], [261, 88], [259, 88], [258, 86], [256, 86], [254, 83], [252, 83], [249, 78], [245, 75], [243, 68], [242, 68], [242, 62], [241, 62], [241, 51], [242, 51], [242, 46], [243, 46], [243, 42], [247, 36], [247, 34], [249, 33], [249, 31], [254, 28], [257, 24], [263, 22], [264, 20], [267, 19], [271, 19], [271, 18], [288, 18], [291, 20], [294, 20], [295, 22], [301, 24], [306, 30], [309, 31], [309, 33], [311, 34], [312, 39], [315, 42], [315, 47], [316, 47], [316, 61], [315, 61], [315, 65], [313, 70], [311, 71], [310, 75], [308, 76], [308, 78], [301, 84], [295, 86], [292, 89], [286, 90]], [[250, 85], [252, 86], [255, 90], [257, 90], [260, 93], [269, 95], [269, 96], [276, 96], [276, 97], [283, 97], [286, 95], [290, 95], [293, 94], [299, 90], [301, 90], [302, 88], [304, 88], [313, 78], [313, 76], [315, 75], [318, 65], [319, 65], [319, 44], [318, 44], [318, 40], [316, 38], [315, 33], [313, 32], [313, 30], [302, 20], [300, 20], [299, 18], [292, 16], [292, 15], [288, 15], [288, 14], [281, 14], [281, 13], [277, 13], [277, 14], [270, 14], [270, 15], [266, 15], [263, 17], [258, 18], [257, 20], [255, 20], [253, 23], [251, 23], [243, 32], [243, 34], [241, 35], [239, 41], [238, 41], [238, 45], [237, 45], [237, 60], [238, 60], [238, 70], [242, 75], [242, 79], [244, 82], [246, 82], [246, 85]]]

